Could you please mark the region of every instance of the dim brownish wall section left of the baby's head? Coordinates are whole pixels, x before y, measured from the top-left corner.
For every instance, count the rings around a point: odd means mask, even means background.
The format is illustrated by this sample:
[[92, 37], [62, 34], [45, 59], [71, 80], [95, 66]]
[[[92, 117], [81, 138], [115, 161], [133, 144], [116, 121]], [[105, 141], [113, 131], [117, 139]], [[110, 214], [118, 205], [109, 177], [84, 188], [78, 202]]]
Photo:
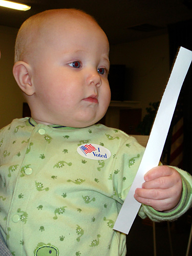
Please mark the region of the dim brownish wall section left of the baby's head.
[[23, 96], [12, 75], [17, 30], [0, 26], [0, 128], [22, 117]]

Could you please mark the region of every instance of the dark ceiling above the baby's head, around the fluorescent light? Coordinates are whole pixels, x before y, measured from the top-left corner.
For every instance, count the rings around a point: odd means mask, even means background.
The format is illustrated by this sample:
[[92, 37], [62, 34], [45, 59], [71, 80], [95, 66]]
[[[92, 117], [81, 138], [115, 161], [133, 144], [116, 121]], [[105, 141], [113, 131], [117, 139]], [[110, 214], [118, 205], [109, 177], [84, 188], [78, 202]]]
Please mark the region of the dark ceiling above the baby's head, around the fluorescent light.
[[[14, 0], [12, 0], [14, 1]], [[77, 8], [93, 15], [110, 44], [167, 32], [167, 25], [192, 19], [192, 0], [16, 0], [29, 11], [0, 7], [0, 25], [19, 28], [33, 14], [55, 8]]]

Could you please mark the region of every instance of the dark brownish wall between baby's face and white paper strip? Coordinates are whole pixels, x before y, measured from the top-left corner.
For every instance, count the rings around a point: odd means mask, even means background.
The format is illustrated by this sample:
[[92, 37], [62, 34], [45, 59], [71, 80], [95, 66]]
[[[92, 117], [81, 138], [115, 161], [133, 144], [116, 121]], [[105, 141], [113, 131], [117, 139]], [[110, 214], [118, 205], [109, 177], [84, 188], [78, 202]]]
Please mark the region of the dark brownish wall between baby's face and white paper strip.
[[167, 82], [168, 35], [112, 45], [110, 51], [111, 64], [126, 65], [126, 99], [140, 101], [145, 115], [148, 104], [161, 99]]

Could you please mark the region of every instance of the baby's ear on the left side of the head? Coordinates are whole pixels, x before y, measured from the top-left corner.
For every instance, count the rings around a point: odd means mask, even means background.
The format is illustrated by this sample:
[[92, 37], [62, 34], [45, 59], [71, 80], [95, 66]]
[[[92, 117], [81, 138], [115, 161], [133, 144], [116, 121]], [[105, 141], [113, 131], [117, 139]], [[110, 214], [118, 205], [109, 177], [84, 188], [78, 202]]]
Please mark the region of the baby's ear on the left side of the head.
[[31, 81], [31, 68], [30, 65], [24, 61], [17, 61], [13, 66], [14, 78], [22, 91], [31, 96], [34, 94], [35, 89]]

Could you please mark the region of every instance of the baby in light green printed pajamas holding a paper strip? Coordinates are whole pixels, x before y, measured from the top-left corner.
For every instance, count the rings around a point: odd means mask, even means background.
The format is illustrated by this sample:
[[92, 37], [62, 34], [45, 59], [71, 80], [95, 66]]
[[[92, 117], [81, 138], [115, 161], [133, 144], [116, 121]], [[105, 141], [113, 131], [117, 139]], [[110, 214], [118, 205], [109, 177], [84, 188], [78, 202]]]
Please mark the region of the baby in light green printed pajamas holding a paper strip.
[[[20, 28], [13, 74], [32, 117], [0, 132], [0, 223], [13, 255], [126, 254], [113, 226], [144, 148], [96, 124], [110, 103], [109, 68], [108, 38], [82, 11], [45, 11]], [[144, 179], [142, 218], [174, 220], [190, 207], [183, 170], [158, 166]]]

